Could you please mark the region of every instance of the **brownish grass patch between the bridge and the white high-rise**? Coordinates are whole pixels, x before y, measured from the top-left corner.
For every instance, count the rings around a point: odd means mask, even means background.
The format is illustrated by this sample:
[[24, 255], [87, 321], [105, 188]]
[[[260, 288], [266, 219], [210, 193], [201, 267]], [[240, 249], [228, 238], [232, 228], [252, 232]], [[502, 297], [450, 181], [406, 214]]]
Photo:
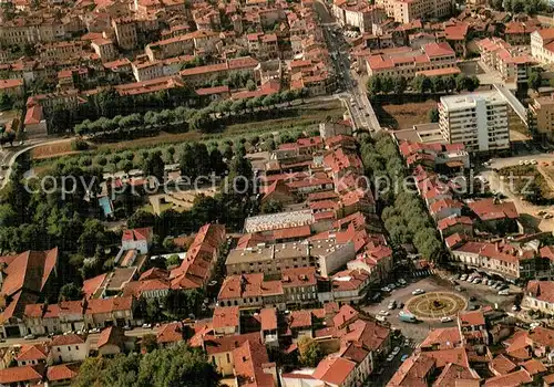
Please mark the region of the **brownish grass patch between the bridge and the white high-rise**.
[[381, 126], [394, 129], [410, 129], [417, 124], [429, 123], [429, 111], [437, 107], [437, 102], [410, 102], [401, 105], [377, 105], [373, 108]]

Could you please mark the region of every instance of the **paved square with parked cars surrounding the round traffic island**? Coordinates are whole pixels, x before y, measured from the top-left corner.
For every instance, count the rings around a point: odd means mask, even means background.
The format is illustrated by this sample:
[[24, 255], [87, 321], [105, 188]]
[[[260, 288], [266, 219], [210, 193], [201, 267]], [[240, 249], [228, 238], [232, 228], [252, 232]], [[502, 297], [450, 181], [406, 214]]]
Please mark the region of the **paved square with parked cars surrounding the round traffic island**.
[[[511, 289], [511, 295], [499, 295], [497, 290], [492, 290], [486, 285], [468, 283], [465, 281], [456, 281], [459, 286], [462, 287], [462, 292], [455, 290], [455, 285], [449, 280], [441, 279], [437, 275], [430, 275], [427, 278], [413, 278], [404, 279], [407, 280], [407, 285], [403, 287], [397, 287], [390, 293], [382, 293], [382, 297], [379, 302], [369, 304], [363, 307], [363, 310], [372, 315], [378, 315], [380, 311], [388, 311], [390, 315], [387, 316], [387, 322], [391, 324], [392, 327], [398, 327], [402, 331], [402, 334], [412, 339], [414, 343], [419, 344], [427, 337], [429, 331], [437, 327], [449, 327], [455, 326], [455, 318], [452, 322], [441, 323], [440, 320], [437, 321], [425, 321], [418, 323], [404, 323], [399, 320], [399, 308], [388, 310], [389, 303], [394, 300], [398, 303], [406, 304], [408, 300], [413, 297], [413, 291], [421, 289], [425, 293], [430, 292], [452, 292], [461, 295], [468, 300], [468, 305], [470, 307], [479, 307], [484, 305], [491, 305], [493, 307], [497, 306], [499, 310], [511, 311], [514, 303], [514, 292], [515, 287]], [[471, 301], [470, 301], [471, 300]]]

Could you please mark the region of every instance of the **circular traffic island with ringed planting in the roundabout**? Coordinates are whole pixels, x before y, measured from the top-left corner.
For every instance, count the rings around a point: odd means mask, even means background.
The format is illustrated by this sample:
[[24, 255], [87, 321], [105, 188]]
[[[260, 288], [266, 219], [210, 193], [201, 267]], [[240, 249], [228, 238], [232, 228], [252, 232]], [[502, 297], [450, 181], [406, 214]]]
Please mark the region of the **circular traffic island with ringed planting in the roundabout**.
[[468, 302], [459, 294], [431, 292], [411, 297], [404, 308], [418, 320], [425, 321], [453, 317], [465, 307], [468, 307]]

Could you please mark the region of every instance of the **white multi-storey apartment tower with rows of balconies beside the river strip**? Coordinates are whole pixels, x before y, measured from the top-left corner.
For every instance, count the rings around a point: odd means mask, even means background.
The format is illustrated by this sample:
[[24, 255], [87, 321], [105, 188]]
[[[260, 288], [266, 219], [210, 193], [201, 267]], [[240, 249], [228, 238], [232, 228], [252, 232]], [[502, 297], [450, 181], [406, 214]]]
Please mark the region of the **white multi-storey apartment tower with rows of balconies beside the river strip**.
[[469, 151], [510, 147], [507, 104], [497, 92], [441, 97], [439, 126], [450, 144], [463, 143]]

